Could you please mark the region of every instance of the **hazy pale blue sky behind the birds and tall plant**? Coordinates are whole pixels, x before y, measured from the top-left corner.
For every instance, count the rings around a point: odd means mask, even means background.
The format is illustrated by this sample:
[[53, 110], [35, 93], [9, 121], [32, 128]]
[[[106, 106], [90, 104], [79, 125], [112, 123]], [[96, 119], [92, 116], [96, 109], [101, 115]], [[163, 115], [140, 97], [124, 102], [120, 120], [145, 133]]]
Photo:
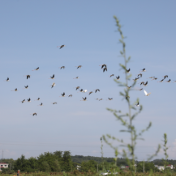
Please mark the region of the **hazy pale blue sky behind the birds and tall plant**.
[[[132, 102], [139, 98], [143, 105], [134, 120], [138, 131], [152, 122], [143, 135], [145, 140], [137, 142], [136, 156], [146, 160], [158, 144], [163, 145], [163, 134], [167, 133], [169, 159], [176, 159], [175, 5], [174, 0], [0, 1], [0, 158], [37, 157], [56, 150], [100, 157], [102, 135], [130, 141], [128, 134], [120, 132], [124, 129], [121, 123], [106, 109], [128, 110], [119, 96], [123, 88], [110, 78], [115, 74], [124, 81], [115, 15], [126, 36], [127, 55], [132, 58], [128, 65], [132, 78], [146, 68], [130, 95]], [[57, 47], [63, 44], [64, 48]], [[107, 64], [107, 72], [103, 73], [101, 64]], [[77, 69], [78, 65], [82, 68]], [[38, 71], [32, 71], [37, 67]], [[30, 79], [25, 77], [28, 74]], [[53, 74], [54, 80], [50, 79]], [[166, 74], [172, 82], [166, 79], [160, 83]], [[79, 79], [73, 79], [76, 76]], [[158, 80], [151, 80], [151, 76]], [[142, 87], [140, 81], [149, 82], [145, 90], [150, 96], [137, 91]], [[51, 89], [53, 82], [56, 86]], [[26, 85], [28, 89], [24, 89]], [[76, 91], [77, 86], [87, 93]], [[95, 89], [100, 92], [88, 95]], [[60, 97], [63, 92], [73, 97]], [[80, 101], [82, 97], [87, 101]], [[28, 98], [30, 103], [21, 103]], [[37, 116], [32, 116], [34, 112]], [[105, 143], [103, 150], [105, 157], [114, 157], [113, 149]], [[161, 150], [155, 158], [163, 157]]]

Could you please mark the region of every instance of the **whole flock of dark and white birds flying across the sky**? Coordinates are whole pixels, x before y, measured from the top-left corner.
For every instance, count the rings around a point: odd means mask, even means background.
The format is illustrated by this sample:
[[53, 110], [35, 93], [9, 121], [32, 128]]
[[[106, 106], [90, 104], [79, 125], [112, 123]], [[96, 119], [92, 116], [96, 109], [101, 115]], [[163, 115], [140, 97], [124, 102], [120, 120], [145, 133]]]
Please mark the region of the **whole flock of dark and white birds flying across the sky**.
[[[61, 45], [61, 46], [58, 46], [58, 47], [59, 47], [60, 49], [62, 49], [63, 47], [65, 47], [65, 45]], [[101, 66], [101, 69], [103, 70], [103, 72], [106, 72], [106, 71], [108, 70], [106, 64], [102, 64], [102, 65], [100, 65], [100, 66]], [[76, 66], [76, 67], [77, 67], [77, 69], [80, 69], [80, 68], [82, 67], [82, 65], [78, 65], [78, 66]], [[60, 69], [65, 69], [65, 66], [61, 66]], [[38, 70], [39, 70], [39, 67], [37, 67], [36, 69], [34, 69], [34, 70], [32, 70], [32, 71], [38, 71]], [[130, 73], [130, 68], [127, 69], [126, 72], [127, 72], [127, 73]], [[137, 81], [137, 80], [139, 80], [140, 78], [142, 78], [143, 72], [146, 72], [146, 69], [145, 69], [145, 68], [143, 68], [143, 69], [140, 71], [140, 73], [137, 75], [136, 78], [133, 79], [133, 81]], [[114, 77], [114, 76], [115, 76], [114, 74], [111, 74], [111, 75], [110, 75], [110, 78], [111, 78], [111, 77]], [[30, 78], [31, 78], [31, 75], [26, 75], [26, 79], [30, 79]], [[77, 76], [77, 77], [75, 77], [75, 78], [73, 78], [73, 79], [78, 79], [78, 78], [79, 78], [79, 77]], [[168, 78], [168, 75], [165, 75], [159, 82], [163, 82], [166, 78]], [[53, 74], [52, 76], [50, 76], [50, 79], [52, 79], [52, 80], [55, 79], [55, 74]], [[116, 79], [116, 80], [120, 80], [120, 76], [115, 76], [115, 79]], [[157, 80], [158, 78], [155, 77], [155, 76], [152, 76], [152, 77], [150, 77], [150, 79], [151, 79], [151, 80]], [[10, 81], [10, 78], [7, 77], [6, 81], [7, 81], [7, 82]], [[168, 79], [166, 82], [171, 82], [171, 79]], [[174, 82], [176, 82], [176, 81], [174, 81]], [[147, 85], [148, 85], [148, 81], [146, 81], [146, 82], [141, 81], [139, 84], [140, 84], [140, 86], [147, 86]], [[55, 86], [56, 86], [56, 84], [53, 83], [53, 84], [51, 85], [51, 88], [54, 88]], [[28, 88], [29, 88], [28, 85], [24, 86], [24, 89], [28, 89]], [[128, 88], [130, 89], [130, 88], [132, 88], [132, 86], [129, 86]], [[138, 90], [139, 90], [139, 91], [142, 91], [143, 88], [140, 88], [140, 89], [138, 89]], [[12, 90], [12, 91], [18, 91], [18, 89], [15, 88], [15, 89]], [[82, 92], [82, 93], [86, 93], [86, 92], [87, 92], [86, 89], [84, 90], [84, 89], [80, 88], [80, 86], [77, 86], [77, 87], [76, 87], [76, 91], [79, 91], [79, 92]], [[149, 96], [149, 95], [151, 94], [151, 93], [147, 93], [146, 90], [143, 90], [143, 91], [144, 91], [144, 95], [145, 95], [145, 96]], [[95, 92], [95, 93], [100, 92], [100, 89], [95, 89], [94, 91], [90, 91], [90, 92], [88, 92], [88, 95], [91, 95], [91, 94], [94, 93], [94, 92]], [[66, 95], [65, 92], [63, 92], [60, 97], [65, 97], [65, 96], [72, 97], [73, 95], [72, 95], [72, 94]], [[126, 98], [129, 98], [129, 97], [126, 97]], [[40, 97], [38, 97], [36, 100], [39, 101], [39, 100], [40, 100]], [[87, 100], [87, 97], [85, 96], [85, 97], [82, 97], [82, 100], [80, 100], [80, 101], [86, 101], [86, 100]], [[100, 98], [100, 99], [97, 98], [96, 100], [101, 101], [101, 100], [103, 100], [103, 98]], [[113, 98], [108, 98], [107, 100], [111, 101], [111, 100], [113, 100]], [[26, 101], [26, 100], [23, 99], [23, 100], [21, 101], [21, 103], [24, 103], [25, 101]], [[28, 98], [28, 99], [27, 99], [27, 102], [31, 102], [31, 98]], [[53, 104], [53, 105], [54, 105], [54, 104], [57, 104], [57, 102], [53, 102], [52, 104]], [[39, 106], [43, 106], [43, 103], [40, 103]], [[139, 102], [136, 104], [136, 106], [139, 106]], [[34, 112], [34, 113], [32, 113], [31, 115], [37, 116], [37, 113]]]

